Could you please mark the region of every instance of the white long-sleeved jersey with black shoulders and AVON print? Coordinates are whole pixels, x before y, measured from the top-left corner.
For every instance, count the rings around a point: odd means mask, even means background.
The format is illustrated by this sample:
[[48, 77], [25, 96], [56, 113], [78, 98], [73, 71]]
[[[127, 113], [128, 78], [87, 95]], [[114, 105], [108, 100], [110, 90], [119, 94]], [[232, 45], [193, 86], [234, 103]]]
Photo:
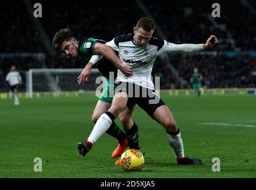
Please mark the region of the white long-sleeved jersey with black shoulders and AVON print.
[[[132, 77], [127, 77], [118, 70], [116, 81], [135, 83], [150, 89], [154, 89], [154, 84], [151, 81], [151, 71], [157, 56], [162, 53], [196, 52], [203, 50], [203, 44], [176, 45], [166, 42], [163, 39], [157, 39], [156, 37], [151, 37], [146, 46], [139, 47], [134, 42], [133, 37], [134, 34], [123, 34], [106, 43], [106, 45], [112, 47], [112, 49], [119, 53], [119, 59], [124, 64], [133, 67]], [[92, 57], [91, 61], [95, 62], [101, 57]]]

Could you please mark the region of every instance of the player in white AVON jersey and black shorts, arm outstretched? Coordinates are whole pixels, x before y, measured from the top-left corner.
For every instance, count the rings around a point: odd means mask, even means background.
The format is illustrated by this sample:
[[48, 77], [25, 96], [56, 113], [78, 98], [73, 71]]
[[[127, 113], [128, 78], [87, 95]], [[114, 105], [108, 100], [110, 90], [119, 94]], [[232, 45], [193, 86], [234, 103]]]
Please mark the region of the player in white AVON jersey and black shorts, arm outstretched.
[[[126, 77], [122, 72], [118, 71], [116, 79], [116, 85], [118, 86], [113, 96], [112, 106], [108, 112], [103, 113], [97, 120], [87, 141], [78, 143], [78, 150], [83, 156], [90, 150], [88, 143], [95, 143], [122, 111], [119, 118], [123, 125], [128, 126], [125, 128], [128, 142], [129, 144], [136, 143], [138, 141], [138, 128], [133, 127], [131, 117], [135, 106], [138, 105], [151, 118], [165, 127], [167, 139], [173, 148], [178, 164], [203, 164], [200, 159], [189, 159], [185, 156], [181, 132], [169, 108], [154, 91], [151, 71], [155, 59], [163, 53], [198, 52], [204, 49], [211, 49], [217, 43], [217, 38], [211, 35], [204, 44], [176, 45], [166, 40], [152, 37], [154, 29], [153, 21], [150, 18], [143, 17], [138, 20], [133, 34], [124, 34], [106, 43], [106, 45], [119, 53], [119, 59], [123, 64], [133, 67], [133, 75], [132, 77]], [[100, 56], [96, 55], [95, 61], [97, 62], [100, 58]], [[146, 97], [141, 96], [143, 91], [147, 91]], [[138, 94], [140, 97], [137, 96]]]

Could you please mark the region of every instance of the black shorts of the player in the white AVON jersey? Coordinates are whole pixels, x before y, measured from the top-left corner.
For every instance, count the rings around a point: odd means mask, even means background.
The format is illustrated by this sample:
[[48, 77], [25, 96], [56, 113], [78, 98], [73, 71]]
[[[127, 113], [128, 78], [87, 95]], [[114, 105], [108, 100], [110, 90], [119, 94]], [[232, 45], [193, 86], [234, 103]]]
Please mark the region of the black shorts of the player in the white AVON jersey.
[[160, 99], [155, 90], [144, 88], [134, 83], [116, 83], [115, 93], [118, 92], [127, 93], [127, 105], [137, 104], [141, 107], [141, 109], [147, 112], [151, 118], [153, 118], [154, 111], [157, 109], [157, 107], [165, 105], [165, 102]]

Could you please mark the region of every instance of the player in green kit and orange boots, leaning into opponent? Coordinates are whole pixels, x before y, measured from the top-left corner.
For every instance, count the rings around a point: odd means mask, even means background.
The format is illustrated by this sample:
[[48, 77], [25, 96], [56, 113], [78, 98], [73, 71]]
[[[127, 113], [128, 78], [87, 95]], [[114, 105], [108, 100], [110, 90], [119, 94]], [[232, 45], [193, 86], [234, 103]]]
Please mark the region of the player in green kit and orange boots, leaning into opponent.
[[[83, 69], [82, 74], [78, 77], [79, 84], [81, 84], [82, 79], [82, 84], [84, 84], [84, 81], [88, 80], [91, 68], [94, 66], [94, 63], [96, 63], [93, 61], [93, 59], [91, 59], [91, 56], [103, 56], [102, 61], [98, 62], [95, 66], [99, 69], [103, 77], [106, 77], [106, 88], [99, 97], [97, 105], [94, 109], [93, 116], [91, 118], [94, 123], [97, 122], [100, 115], [108, 111], [112, 103], [113, 95], [108, 95], [110, 94], [109, 88], [111, 85], [113, 85], [111, 84], [113, 81], [110, 80], [110, 72], [114, 74], [114, 80], [117, 75], [117, 69], [121, 70], [121, 72], [127, 76], [132, 76], [133, 71], [132, 66], [122, 64], [118, 56], [116, 56], [117, 52], [114, 52], [109, 46], [106, 46], [105, 43], [106, 42], [103, 40], [96, 40], [92, 38], [77, 41], [69, 29], [59, 30], [52, 40], [52, 46], [55, 47], [55, 49], [60, 50], [62, 53], [65, 53], [65, 55], [74, 59], [81, 56], [86, 62], [88, 62], [86, 67]], [[112, 153], [113, 159], [121, 156], [125, 148], [129, 146], [127, 136], [125, 135], [124, 131], [122, 131], [122, 129], [120, 129], [115, 123], [113, 123], [108, 130], [105, 130], [105, 128], [100, 128], [98, 132], [106, 132], [118, 140], [118, 147]], [[88, 145], [90, 145], [90, 148], [93, 147], [93, 144], [90, 142]], [[79, 154], [81, 154], [81, 152], [79, 152]], [[84, 156], [85, 154], [81, 155]]]

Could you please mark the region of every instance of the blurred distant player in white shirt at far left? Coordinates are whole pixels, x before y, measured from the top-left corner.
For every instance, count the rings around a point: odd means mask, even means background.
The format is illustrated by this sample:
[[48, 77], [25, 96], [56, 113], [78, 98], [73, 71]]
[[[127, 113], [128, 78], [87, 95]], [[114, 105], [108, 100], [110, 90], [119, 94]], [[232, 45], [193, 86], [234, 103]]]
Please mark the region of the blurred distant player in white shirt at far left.
[[18, 86], [22, 84], [20, 72], [16, 70], [16, 66], [11, 66], [11, 71], [7, 74], [5, 80], [8, 81], [13, 96], [14, 96], [14, 105], [20, 105], [20, 101], [18, 99]]

